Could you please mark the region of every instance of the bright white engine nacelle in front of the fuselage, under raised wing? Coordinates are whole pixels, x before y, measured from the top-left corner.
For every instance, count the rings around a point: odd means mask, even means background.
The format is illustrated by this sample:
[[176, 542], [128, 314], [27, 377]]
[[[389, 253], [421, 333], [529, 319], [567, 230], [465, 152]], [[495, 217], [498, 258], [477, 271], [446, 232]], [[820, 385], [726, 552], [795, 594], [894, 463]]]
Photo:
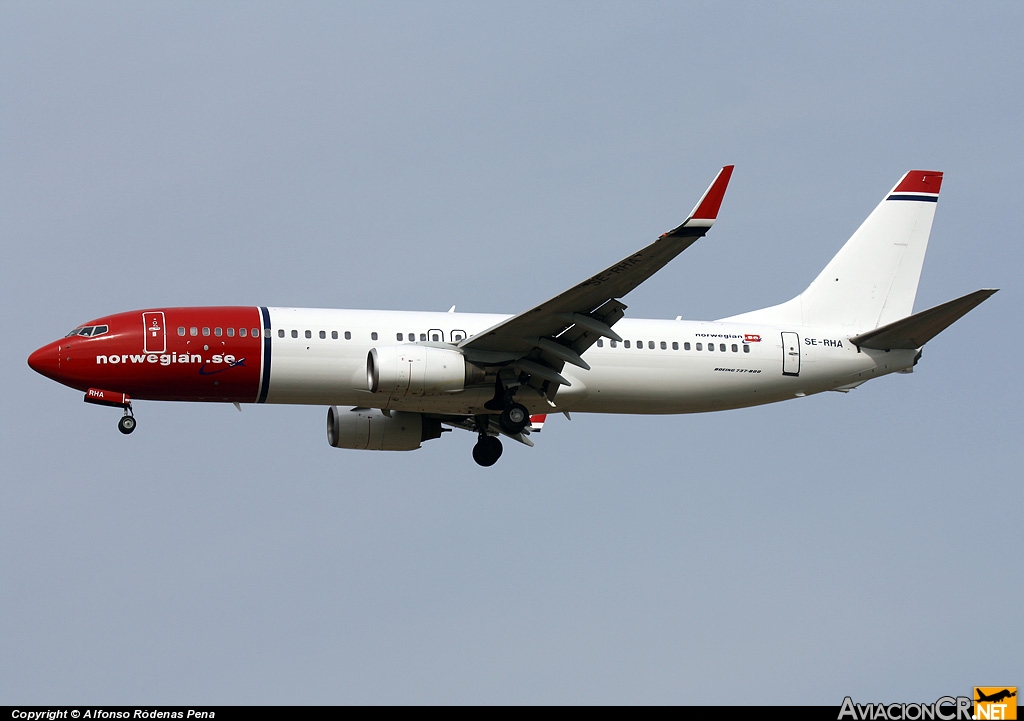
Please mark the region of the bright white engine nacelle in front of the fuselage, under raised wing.
[[426, 345], [385, 345], [367, 355], [367, 385], [394, 397], [457, 393], [482, 383], [483, 370], [458, 350]]

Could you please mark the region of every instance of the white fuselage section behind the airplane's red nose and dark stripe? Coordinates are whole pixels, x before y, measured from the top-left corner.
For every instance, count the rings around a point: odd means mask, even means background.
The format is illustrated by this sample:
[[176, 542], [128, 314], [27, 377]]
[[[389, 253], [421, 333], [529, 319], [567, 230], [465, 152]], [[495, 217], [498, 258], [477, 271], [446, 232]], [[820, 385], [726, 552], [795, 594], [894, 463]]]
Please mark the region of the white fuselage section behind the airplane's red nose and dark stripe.
[[[411, 336], [415, 343], [454, 347], [508, 317], [318, 308], [269, 308], [269, 316], [266, 402], [450, 414], [480, 412], [493, 385], [413, 397], [371, 393], [367, 354], [409, 343]], [[721, 411], [853, 387], [910, 369], [916, 356], [915, 350], [858, 350], [842, 333], [801, 326], [624, 319], [615, 332], [623, 342], [604, 339], [584, 354], [591, 370], [564, 367], [571, 385], [558, 390], [554, 407], [528, 386], [517, 400], [532, 413]]]

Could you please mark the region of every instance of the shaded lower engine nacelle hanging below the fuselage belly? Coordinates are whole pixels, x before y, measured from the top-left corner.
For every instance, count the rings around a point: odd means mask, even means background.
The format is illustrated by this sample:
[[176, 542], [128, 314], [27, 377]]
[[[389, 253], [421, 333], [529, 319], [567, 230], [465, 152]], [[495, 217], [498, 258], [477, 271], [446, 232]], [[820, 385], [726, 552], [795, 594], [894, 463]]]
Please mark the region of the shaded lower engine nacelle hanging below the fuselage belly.
[[440, 436], [440, 421], [420, 413], [392, 411], [385, 416], [376, 409], [337, 406], [327, 412], [327, 441], [336, 449], [415, 451], [424, 440]]

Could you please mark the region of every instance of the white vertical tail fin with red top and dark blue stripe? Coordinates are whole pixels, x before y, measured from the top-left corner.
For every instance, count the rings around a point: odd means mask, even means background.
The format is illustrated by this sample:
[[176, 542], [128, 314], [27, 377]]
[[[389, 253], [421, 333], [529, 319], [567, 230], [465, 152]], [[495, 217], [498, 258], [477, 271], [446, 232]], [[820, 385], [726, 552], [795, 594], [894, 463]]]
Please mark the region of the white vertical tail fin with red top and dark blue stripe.
[[726, 321], [861, 333], [913, 312], [942, 173], [911, 170], [886, 194], [807, 290]]

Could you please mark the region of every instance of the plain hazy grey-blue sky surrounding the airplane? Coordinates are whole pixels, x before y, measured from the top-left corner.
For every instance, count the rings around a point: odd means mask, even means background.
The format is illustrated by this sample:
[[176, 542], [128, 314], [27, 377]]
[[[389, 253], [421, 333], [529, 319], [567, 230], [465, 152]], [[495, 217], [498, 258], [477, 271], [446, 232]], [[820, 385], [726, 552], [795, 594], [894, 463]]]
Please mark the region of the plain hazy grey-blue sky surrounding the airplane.
[[[0, 703], [934, 701], [1024, 683], [1020, 3], [0, 4]], [[325, 409], [31, 372], [161, 305], [784, 300], [911, 168], [910, 376], [766, 408], [328, 447]]]

